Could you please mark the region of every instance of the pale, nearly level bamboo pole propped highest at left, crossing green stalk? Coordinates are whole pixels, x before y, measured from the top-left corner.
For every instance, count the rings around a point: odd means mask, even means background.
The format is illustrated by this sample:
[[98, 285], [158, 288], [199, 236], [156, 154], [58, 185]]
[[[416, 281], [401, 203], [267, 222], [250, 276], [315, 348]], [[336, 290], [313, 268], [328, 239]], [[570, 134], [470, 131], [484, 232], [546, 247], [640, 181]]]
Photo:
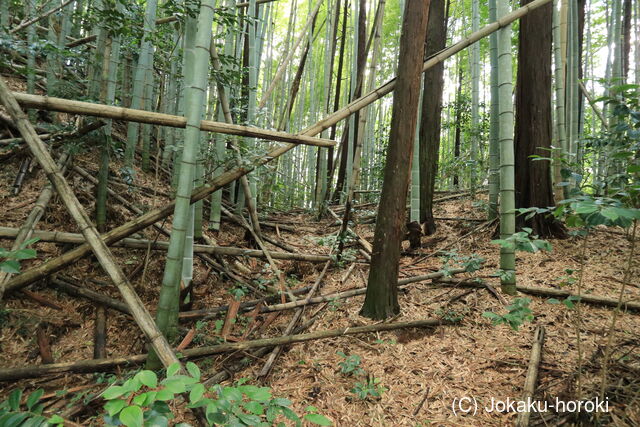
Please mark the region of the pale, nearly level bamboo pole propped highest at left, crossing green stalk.
[[[18, 103], [25, 108], [39, 108], [47, 111], [84, 114], [107, 119], [126, 120], [177, 128], [184, 128], [187, 124], [187, 119], [184, 117], [173, 116], [171, 114], [115, 107], [112, 105], [94, 104], [83, 101], [72, 101], [69, 99], [48, 96], [30, 95], [22, 92], [13, 92], [13, 95]], [[286, 132], [258, 129], [241, 125], [230, 125], [211, 120], [202, 120], [200, 123], [200, 130], [218, 132], [226, 135], [248, 136], [271, 141], [288, 142], [291, 144], [315, 145], [317, 147], [333, 147], [336, 145], [336, 142], [330, 139], [315, 138], [306, 135], [292, 135]]]

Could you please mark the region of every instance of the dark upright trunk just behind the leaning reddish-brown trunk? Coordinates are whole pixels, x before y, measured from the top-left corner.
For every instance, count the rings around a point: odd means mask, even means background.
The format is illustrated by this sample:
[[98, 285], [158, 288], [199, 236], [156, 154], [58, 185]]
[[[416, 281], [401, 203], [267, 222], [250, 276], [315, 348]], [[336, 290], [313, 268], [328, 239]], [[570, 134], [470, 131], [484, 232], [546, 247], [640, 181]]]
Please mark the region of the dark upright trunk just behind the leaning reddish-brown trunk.
[[[447, 8], [449, 2], [447, 1]], [[447, 15], [445, 0], [434, 0], [429, 7], [429, 23], [425, 41], [425, 58], [444, 49], [447, 39]], [[440, 118], [442, 89], [444, 88], [444, 64], [440, 63], [424, 73], [422, 93], [422, 123], [420, 125], [420, 222], [423, 232], [436, 232], [433, 220], [433, 192], [438, 173], [440, 151]]]

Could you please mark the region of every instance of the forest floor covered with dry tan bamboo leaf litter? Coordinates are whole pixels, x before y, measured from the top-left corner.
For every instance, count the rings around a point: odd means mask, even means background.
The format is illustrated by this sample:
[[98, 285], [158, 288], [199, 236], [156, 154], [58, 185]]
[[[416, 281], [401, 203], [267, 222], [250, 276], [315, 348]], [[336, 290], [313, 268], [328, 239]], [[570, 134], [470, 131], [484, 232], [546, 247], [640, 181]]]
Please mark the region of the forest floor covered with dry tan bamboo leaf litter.
[[[76, 156], [74, 161], [95, 176], [95, 165], [98, 164], [95, 152]], [[1, 226], [19, 227], [45, 184], [43, 173], [36, 167], [27, 176], [20, 194], [11, 196], [11, 183], [18, 173], [19, 164], [14, 158], [5, 162], [0, 169]], [[120, 166], [114, 162], [113, 172], [117, 173]], [[141, 209], [169, 202], [165, 194], [170, 193], [170, 188], [166, 184], [140, 171], [137, 174], [136, 185], [140, 187], [118, 184], [112, 188]], [[73, 172], [68, 177], [85, 209], [92, 213], [93, 185]], [[152, 194], [154, 189], [158, 192], [155, 197]], [[481, 205], [484, 199], [484, 195], [478, 195], [475, 202], [466, 197], [438, 203], [435, 215], [482, 219], [484, 209]], [[355, 218], [366, 213], [370, 211], [356, 210]], [[109, 203], [110, 227], [133, 217], [115, 201]], [[207, 231], [207, 235], [222, 246], [246, 247], [243, 230], [224, 217], [223, 220], [222, 231]], [[269, 220], [296, 228], [296, 232], [281, 229], [278, 236], [275, 230], [263, 227], [267, 235], [293, 246], [301, 253], [328, 254], [330, 246], [327, 241], [330, 239], [327, 237], [338, 231], [333, 219], [316, 222], [310, 213], [300, 210], [272, 213]], [[435, 235], [422, 238], [422, 248], [402, 257], [400, 276], [404, 278], [441, 270], [443, 259], [433, 256], [434, 251], [453, 244], [459, 255], [475, 254], [485, 260], [481, 270], [457, 275], [456, 278], [481, 277], [499, 289], [499, 280], [491, 277], [498, 268], [499, 255], [498, 247], [490, 242], [494, 227], [485, 227], [460, 240], [481, 222], [438, 221], [437, 224]], [[169, 227], [170, 221], [165, 226]], [[361, 224], [355, 228], [366, 240], [373, 241], [373, 224]], [[50, 203], [37, 229], [77, 232], [57, 197]], [[148, 239], [166, 240], [164, 236], [158, 236], [153, 228], [146, 229], [140, 235]], [[599, 227], [587, 241], [584, 259], [581, 259], [581, 238], [551, 240], [551, 244], [551, 252], [518, 253], [518, 284], [559, 288], [563, 282], [566, 284], [572, 281], [566, 277], [567, 269], [574, 270], [571, 277], [577, 278], [584, 265], [582, 288], [585, 293], [618, 298], [630, 250], [630, 242], [620, 229]], [[404, 245], [406, 249], [408, 242], [404, 242]], [[3, 241], [2, 246], [9, 247], [10, 241]], [[355, 243], [352, 247], [357, 249]], [[36, 248], [38, 259], [25, 261], [24, 269], [63, 251], [60, 245], [54, 243], [37, 243]], [[269, 248], [281, 251], [272, 245]], [[146, 307], [153, 313], [164, 268], [162, 252], [154, 251], [146, 268], [140, 268], [145, 263], [145, 250], [114, 248], [113, 252]], [[362, 257], [359, 258], [362, 260]], [[226, 259], [233, 264], [232, 257]], [[237, 261], [244, 267], [235, 271], [240, 271], [238, 274], [249, 283], [258, 277], [271, 276], [265, 268], [265, 261], [261, 259], [237, 258]], [[323, 266], [321, 263], [294, 261], [278, 261], [278, 265], [287, 274], [289, 285], [293, 288], [312, 285]], [[365, 286], [368, 264], [358, 262], [351, 267], [349, 263], [343, 266], [332, 265], [322, 280], [319, 293], [330, 294]], [[640, 274], [637, 265], [635, 268], [631, 275], [635, 285], [626, 287], [625, 300], [637, 301], [640, 297]], [[350, 274], [345, 280], [348, 271]], [[117, 289], [107, 283], [107, 276], [91, 258], [74, 263], [62, 274], [75, 278], [87, 288], [119, 298]], [[232, 300], [230, 290], [235, 285], [222, 280], [201, 259], [195, 261], [194, 276], [196, 287], [193, 309], [218, 307]], [[564, 289], [575, 292], [577, 286], [577, 282], [566, 284]], [[37, 283], [30, 289], [59, 309], [43, 306], [21, 294], [7, 295], [0, 311], [0, 367], [23, 367], [41, 363], [36, 343], [37, 328], [44, 328], [46, 331], [56, 362], [91, 359], [94, 303], [70, 297], [44, 282]], [[516, 331], [505, 325], [492, 326], [491, 321], [482, 316], [486, 311], [504, 314], [505, 303], [511, 297], [504, 295], [503, 298], [497, 298], [486, 288], [443, 287], [430, 281], [414, 283], [406, 291], [400, 292], [402, 312], [394, 321], [460, 316], [460, 324], [295, 344], [277, 359], [264, 384], [272, 387], [274, 395], [292, 400], [296, 412], [302, 413], [307, 405], [313, 405], [338, 426], [508, 425], [515, 421], [515, 414], [489, 413], [482, 410], [482, 407], [490, 405], [492, 398], [517, 400], [522, 396], [533, 331], [537, 325], [544, 325], [546, 339], [534, 399], [553, 402], [556, 398], [561, 401], [574, 400], [578, 394], [582, 398], [597, 396], [602, 378], [603, 354], [609, 340], [614, 310], [588, 304], [580, 304], [579, 311], [570, 310], [562, 304], [549, 303], [548, 298], [527, 297], [532, 300], [530, 308], [535, 320], [525, 323]], [[248, 294], [243, 300], [252, 298], [254, 297]], [[372, 324], [374, 322], [358, 314], [363, 300], [363, 296], [355, 296], [309, 306], [302, 321], [316, 316], [317, 320], [309, 331]], [[291, 315], [291, 310], [281, 312], [271, 325], [260, 330], [260, 335], [281, 335]], [[637, 399], [640, 395], [640, 322], [637, 315], [632, 312], [624, 313], [616, 323], [606, 389], [610, 412], [603, 414], [605, 423], [640, 425], [640, 401]], [[217, 319], [224, 319], [221, 316]], [[579, 346], [576, 337], [577, 316], [582, 320]], [[183, 326], [191, 328], [194, 324], [195, 322], [185, 322]], [[232, 337], [240, 339], [245, 326], [243, 321], [237, 322]], [[198, 328], [191, 347], [197, 346], [198, 342], [215, 340], [213, 319], [206, 323], [200, 322]], [[108, 310], [107, 357], [142, 354], [145, 351], [142, 333], [131, 318], [115, 310]], [[379, 379], [385, 388], [381, 397], [361, 400], [351, 392], [355, 383], [364, 381], [364, 377], [341, 373], [339, 363], [344, 358], [338, 352], [361, 358], [360, 368], [371, 377]], [[201, 358], [195, 362], [203, 371], [203, 378], [208, 378], [228, 366], [229, 355]], [[249, 378], [254, 381], [263, 364], [264, 360], [258, 359], [248, 368], [236, 373], [234, 378]], [[582, 365], [581, 375], [578, 375], [579, 364]], [[116, 373], [125, 375], [126, 372], [127, 370], [121, 370]], [[80, 399], [89, 399], [92, 394], [104, 390], [104, 381], [108, 375], [65, 374], [26, 379], [12, 384], [2, 383], [0, 397], [6, 397], [15, 387], [27, 391], [44, 388], [47, 393], [47, 410], [61, 411], [80, 402]], [[578, 390], [579, 387], [581, 390]], [[59, 395], [54, 393], [56, 390], [67, 390], [69, 393]], [[454, 414], [452, 403], [455, 399], [464, 397], [477, 400], [480, 408], [475, 415]], [[92, 417], [101, 410], [102, 403], [92, 401], [74, 419], [83, 425], [100, 424], [98, 419]], [[546, 420], [534, 415], [532, 425], [557, 425], [572, 420], [574, 418], [570, 414], [550, 413]]]

